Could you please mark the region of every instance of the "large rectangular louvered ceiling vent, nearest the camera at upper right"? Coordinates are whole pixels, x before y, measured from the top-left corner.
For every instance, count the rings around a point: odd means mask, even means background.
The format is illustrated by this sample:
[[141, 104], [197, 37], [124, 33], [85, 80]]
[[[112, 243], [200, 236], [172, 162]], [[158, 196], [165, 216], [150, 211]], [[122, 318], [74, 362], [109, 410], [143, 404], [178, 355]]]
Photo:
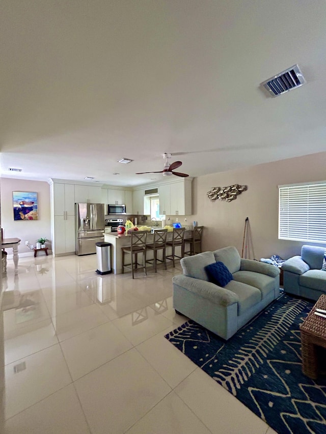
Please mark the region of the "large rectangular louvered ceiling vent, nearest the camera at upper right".
[[298, 65], [294, 65], [261, 83], [271, 97], [277, 97], [292, 89], [300, 88], [303, 84], [306, 84], [306, 80]]

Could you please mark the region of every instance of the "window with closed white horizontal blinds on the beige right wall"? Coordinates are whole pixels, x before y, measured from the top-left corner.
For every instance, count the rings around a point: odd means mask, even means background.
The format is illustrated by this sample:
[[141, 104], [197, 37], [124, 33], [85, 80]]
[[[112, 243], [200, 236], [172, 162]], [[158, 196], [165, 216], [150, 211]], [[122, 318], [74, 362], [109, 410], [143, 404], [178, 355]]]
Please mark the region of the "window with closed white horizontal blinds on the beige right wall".
[[279, 239], [326, 243], [326, 182], [279, 187]]

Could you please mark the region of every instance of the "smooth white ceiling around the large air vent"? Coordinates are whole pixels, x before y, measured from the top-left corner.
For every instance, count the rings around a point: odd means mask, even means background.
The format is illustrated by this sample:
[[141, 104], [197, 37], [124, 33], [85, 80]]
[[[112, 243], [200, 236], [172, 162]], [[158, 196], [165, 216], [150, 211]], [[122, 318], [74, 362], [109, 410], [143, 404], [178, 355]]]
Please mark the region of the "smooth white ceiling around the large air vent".
[[[2, 0], [0, 20], [2, 177], [134, 186], [165, 152], [196, 177], [326, 150], [325, 0]], [[266, 96], [294, 64], [307, 84]]]

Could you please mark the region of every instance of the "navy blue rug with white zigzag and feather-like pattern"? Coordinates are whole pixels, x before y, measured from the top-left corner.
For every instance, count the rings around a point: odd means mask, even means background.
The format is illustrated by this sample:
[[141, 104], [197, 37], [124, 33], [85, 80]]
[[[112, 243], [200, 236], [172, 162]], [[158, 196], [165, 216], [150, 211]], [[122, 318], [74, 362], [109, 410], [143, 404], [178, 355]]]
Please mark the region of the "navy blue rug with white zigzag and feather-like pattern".
[[282, 295], [228, 341], [191, 320], [165, 337], [279, 434], [325, 434], [326, 379], [301, 371], [312, 306]]

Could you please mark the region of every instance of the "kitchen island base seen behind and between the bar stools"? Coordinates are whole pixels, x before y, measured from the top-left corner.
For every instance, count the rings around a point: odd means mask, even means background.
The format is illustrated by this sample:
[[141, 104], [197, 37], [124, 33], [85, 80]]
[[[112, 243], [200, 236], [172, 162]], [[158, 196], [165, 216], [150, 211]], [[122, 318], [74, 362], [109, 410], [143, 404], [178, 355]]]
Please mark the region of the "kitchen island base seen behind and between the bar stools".
[[[194, 229], [186, 229], [184, 233], [185, 238], [189, 238]], [[172, 240], [172, 232], [168, 232], [167, 240]], [[147, 234], [147, 243], [153, 242], [154, 235], [150, 232]], [[111, 269], [114, 274], [122, 273], [122, 251], [121, 247], [130, 246], [131, 235], [119, 235], [117, 232], [108, 232], [104, 234], [104, 241], [111, 244]], [[181, 256], [181, 247], [177, 247], [177, 255]], [[172, 254], [172, 247], [167, 246], [167, 255]], [[148, 250], [146, 259], [153, 259], [153, 251]], [[167, 264], [169, 264], [167, 259]], [[151, 267], [148, 264], [148, 267]]]

